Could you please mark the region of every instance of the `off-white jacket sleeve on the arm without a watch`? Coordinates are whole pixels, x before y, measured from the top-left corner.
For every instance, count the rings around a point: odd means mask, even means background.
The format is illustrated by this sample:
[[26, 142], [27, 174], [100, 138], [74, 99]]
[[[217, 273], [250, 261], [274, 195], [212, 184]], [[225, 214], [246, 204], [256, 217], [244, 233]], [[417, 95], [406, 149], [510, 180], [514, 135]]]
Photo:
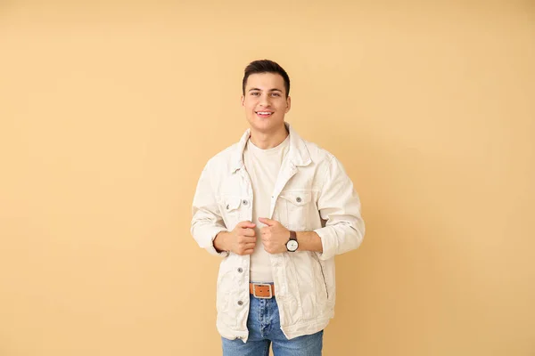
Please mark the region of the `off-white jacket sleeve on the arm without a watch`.
[[219, 213], [218, 202], [210, 182], [210, 161], [202, 170], [193, 197], [193, 219], [191, 233], [200, 247], [206, 248], [212, 255], [226, 257], [227, 252], [218, 253], [214, 247], [214, 239], [220, 231], [226, 231], [225, 223]]

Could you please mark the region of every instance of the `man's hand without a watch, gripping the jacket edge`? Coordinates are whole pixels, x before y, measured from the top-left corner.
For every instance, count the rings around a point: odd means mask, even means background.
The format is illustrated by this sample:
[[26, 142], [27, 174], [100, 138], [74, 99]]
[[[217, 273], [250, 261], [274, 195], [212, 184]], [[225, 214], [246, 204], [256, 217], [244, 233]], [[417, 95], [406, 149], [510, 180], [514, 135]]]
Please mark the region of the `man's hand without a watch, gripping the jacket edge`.
[[221, 231], [214, 239], [214, 247], [218, 252], [231, 251], [236, 255], [251, 255], [256, 246], [255, 223], [240, 222], [230, 232]]

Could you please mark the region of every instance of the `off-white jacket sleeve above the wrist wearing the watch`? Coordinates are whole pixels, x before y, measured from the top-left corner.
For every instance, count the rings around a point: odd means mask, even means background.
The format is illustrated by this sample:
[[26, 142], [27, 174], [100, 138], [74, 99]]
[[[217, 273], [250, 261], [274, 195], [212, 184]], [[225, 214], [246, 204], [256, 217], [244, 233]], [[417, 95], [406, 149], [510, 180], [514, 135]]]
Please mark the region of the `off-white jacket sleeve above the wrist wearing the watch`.
[[360, 200], [353, 182], [342, 163], [331, 158], [326, 172], [317, 207], [325, 227], [317, 229], [321, 238], [322, 260], [333, 258], [360, 246], [364, 238], [364, 221], [360, 216]]

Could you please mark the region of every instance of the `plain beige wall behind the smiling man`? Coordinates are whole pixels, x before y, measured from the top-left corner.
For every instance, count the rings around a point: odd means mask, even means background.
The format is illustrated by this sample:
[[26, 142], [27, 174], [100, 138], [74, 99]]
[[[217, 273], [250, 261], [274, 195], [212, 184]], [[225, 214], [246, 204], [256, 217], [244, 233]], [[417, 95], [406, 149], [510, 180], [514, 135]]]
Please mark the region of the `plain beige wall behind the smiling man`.
[[342, 160], [325, 355], [535, 355], [535, 4], [0, 2], [0, 355], [217, 355], [189, 235], [243, 68]]

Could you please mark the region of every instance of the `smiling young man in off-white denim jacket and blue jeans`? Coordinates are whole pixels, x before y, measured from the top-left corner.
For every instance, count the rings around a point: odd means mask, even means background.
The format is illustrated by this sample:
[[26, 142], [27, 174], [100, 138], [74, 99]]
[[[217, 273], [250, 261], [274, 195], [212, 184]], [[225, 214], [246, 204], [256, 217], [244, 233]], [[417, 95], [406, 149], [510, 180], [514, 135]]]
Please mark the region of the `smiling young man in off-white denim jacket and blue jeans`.
[[273, 61], [243, 77], [250, 129], [211, 158], [193, 198], [192, 235], [222, 257], [218, 331], [223, 354], [321, 354], [333, 318], [334, 255], [364, 236], [342, 164], [284, 122], [290, 79]]

